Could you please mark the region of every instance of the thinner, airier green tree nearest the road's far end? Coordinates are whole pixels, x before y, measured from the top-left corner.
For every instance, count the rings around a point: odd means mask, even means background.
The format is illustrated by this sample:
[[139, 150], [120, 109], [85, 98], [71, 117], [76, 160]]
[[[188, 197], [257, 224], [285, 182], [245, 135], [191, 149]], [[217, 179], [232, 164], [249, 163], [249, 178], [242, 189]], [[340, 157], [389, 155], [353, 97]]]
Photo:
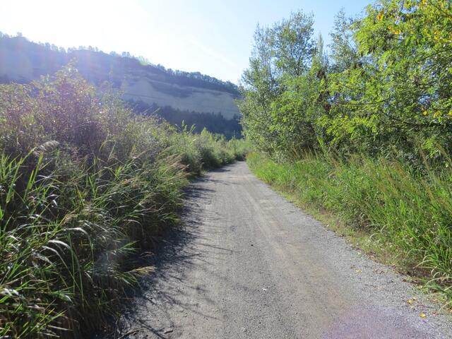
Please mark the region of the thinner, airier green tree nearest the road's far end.
[[313, 16], [297, 11], [270, 28], [258, 26], [249, 69], [242, 77], [240, 109], [246, 136], [276, 157], [315, 143], [309, 100], [299, 95], [309, 87], [307, 73], [316, 50], [313, 25]]

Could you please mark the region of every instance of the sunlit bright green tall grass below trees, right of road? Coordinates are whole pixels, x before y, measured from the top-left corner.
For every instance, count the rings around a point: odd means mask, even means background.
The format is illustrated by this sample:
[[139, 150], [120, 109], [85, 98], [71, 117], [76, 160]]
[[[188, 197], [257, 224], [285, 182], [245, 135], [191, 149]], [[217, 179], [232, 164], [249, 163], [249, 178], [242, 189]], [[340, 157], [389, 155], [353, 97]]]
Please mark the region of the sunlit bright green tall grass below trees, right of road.
[[396, 160], [307, 155], [276, 163], [249, 155], [256, 175], [307, 206], [372, 235], [434, 290], [452, 298], [452, 169], [420, 172]]

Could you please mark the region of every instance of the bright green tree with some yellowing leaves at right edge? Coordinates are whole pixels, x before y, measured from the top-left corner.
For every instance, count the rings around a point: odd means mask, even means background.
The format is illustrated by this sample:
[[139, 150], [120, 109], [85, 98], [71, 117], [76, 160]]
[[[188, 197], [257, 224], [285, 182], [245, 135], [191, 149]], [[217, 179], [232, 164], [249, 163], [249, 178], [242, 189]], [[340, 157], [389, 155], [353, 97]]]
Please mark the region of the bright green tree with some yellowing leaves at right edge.
[[333, 114], [322, 119], [335, 144], [408, 158], [450, 153], [452, 3], [381, 0], [347, 34], [343, 23], [333, 33]]

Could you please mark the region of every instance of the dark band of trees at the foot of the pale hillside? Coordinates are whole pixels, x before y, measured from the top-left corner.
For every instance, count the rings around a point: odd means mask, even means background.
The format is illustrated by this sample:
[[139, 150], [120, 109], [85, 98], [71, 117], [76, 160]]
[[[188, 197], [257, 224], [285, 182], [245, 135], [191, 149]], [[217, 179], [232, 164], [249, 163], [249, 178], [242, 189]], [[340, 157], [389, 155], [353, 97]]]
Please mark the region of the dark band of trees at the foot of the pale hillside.
[[141, 100], [128, 101], [134, 112], [145, 116], [156, 115], [162, 117], [169, 124], [182, 126], [182, 122], [187, 126], [194, 126], [195, 133], [201, 133], [204, 128], [212, 133], [223, 134], [227, 139], [232, 137], [242, 138], [242, 125], [240, 118], [225, 119], [220, 113], [198, 113], [193, 111], [183, 111], [174, 109], [171, 106], [159, 107], [157, 104], [149, 105]]

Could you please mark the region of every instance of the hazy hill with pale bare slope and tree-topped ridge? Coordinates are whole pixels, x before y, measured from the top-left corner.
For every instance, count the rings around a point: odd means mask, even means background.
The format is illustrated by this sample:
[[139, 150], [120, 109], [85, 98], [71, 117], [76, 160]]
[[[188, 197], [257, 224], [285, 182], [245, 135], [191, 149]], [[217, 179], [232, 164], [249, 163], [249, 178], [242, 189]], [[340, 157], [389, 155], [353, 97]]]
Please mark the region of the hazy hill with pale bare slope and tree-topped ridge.
[[[95, 85], [109, 81], [121, 89], [125, 100], [171, 107], [177, 112], [195, 112], [225, 119], [239, 115], [234, 100], [237, 86], [199, 72], [188, 73], [149, 64], [143, 58], [106, 54], [96, 48], [65, 49], [37, 44], [25, 37], [0, 33], [0, 83], [28, 83], [53, 74], [72, 59], [82, 76]], [[238, 126], [238, 125], [237, 125]]]

